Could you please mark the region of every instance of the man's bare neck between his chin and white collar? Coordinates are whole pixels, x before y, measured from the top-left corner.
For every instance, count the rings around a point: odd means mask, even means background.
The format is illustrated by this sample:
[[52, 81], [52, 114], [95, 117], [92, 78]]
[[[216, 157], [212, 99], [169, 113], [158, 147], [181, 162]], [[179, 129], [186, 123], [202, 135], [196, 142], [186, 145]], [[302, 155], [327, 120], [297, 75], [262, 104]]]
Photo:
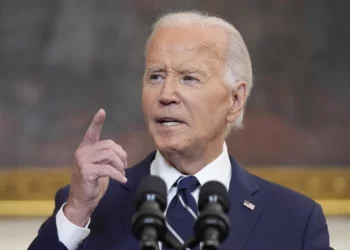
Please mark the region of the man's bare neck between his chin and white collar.
[[194, 175], [220, 156], [223, 152], [223, 144], [222, 141], [219, 145], [196, 146], [195, 150], [183, 150], [183, 152], [163, 150], [160, 153], [180, 173]]

